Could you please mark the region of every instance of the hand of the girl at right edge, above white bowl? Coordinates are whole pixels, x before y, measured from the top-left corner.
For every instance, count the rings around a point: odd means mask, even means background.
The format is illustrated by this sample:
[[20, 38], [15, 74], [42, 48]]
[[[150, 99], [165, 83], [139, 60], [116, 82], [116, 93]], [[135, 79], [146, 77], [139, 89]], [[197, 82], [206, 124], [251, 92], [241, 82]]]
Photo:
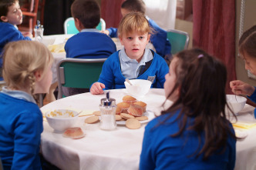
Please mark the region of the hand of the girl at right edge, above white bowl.
[[249, 85], [240, 80], [234, 80], [230, 82], [231, 90], [235, 95], [252, 95], [255, 88], [252, 85]]

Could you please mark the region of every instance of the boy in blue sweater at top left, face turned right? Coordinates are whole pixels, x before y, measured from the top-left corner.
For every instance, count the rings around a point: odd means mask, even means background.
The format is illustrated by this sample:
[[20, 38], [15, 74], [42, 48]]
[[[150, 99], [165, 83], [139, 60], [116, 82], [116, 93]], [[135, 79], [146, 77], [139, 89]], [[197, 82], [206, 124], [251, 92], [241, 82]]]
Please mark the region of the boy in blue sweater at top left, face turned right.
[[[31, 40], [30, 32], [19, 32], [16, 25], [22, 24], [22, 10], [19, 7], [18, 0], [1, 0], [0, 1], [0, 55], [2, 49], [8, 42], [19, 40]], [[2, 71], [2, 58], [0, 58], [0, 68]], [[0, 72], [2, 80], [2, 72]]]

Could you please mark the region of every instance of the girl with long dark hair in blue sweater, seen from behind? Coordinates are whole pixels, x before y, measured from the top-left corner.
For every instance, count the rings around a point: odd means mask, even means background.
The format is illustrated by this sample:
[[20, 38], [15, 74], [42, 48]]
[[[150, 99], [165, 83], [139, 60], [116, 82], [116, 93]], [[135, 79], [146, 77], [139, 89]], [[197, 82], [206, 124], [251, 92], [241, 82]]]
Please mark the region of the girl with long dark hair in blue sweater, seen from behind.
[[224, 64], [200, 49], [186, 50], [173, 57], [165, 78], [173, 105], [147, 124], [140, 170], [234, 169], [236, 137], [225, 116]]

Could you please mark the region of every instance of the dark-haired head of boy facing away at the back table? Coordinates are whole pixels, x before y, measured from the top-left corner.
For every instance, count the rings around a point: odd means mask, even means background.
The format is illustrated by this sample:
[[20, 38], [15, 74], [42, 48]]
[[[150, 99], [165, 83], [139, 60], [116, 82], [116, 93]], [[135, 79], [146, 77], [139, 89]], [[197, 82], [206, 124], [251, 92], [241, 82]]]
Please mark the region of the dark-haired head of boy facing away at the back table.
[[96, 28], [99, 25], [100, 9], [95, 0], [75, 0], [71, 5], [72, 17], [79, 20], [83, 28]]

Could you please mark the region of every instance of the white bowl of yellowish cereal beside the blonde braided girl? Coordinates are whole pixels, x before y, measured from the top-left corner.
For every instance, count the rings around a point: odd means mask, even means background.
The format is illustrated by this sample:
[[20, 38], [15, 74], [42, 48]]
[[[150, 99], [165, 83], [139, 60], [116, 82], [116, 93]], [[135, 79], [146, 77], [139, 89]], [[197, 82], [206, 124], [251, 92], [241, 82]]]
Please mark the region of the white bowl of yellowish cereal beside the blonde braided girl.
[[47, 122], [56, 132], [72, 128], [76, 124], [78, 115], [78, 112], [68, 109], [56, 109], [45, 113]]

